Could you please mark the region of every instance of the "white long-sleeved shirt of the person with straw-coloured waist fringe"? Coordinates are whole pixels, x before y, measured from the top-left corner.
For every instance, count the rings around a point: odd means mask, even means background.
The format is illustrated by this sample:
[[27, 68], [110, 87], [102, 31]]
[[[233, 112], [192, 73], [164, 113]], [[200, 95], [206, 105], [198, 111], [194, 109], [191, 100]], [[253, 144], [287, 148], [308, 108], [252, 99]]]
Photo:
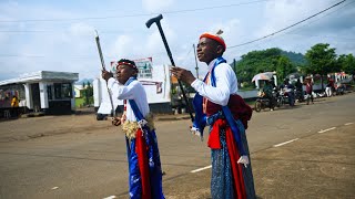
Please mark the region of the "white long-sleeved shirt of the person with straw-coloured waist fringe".
[[[134, 100], [143, 117], [145, 117], [150, 112], [145, 90], [139, 81], [133, 81], [128, 86], [124, 86], [111, 77], [108, 81], [108, 86], [112, 92], [112, 97], [118, 100]], [[126, 119], [130, 122], [136, 122], [129, 102], [126, 102]]]

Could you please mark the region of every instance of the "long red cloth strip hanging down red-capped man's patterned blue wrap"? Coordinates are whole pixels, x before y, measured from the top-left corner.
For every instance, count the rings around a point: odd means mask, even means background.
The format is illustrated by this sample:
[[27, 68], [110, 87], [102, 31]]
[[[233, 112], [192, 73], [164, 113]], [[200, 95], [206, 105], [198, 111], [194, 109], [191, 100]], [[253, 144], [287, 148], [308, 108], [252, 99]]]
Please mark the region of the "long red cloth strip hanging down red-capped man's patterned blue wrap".
[[246, 192], [245, 192], [245, 185], [244, 185], [244, 178], [243, 178], [243, 165], [237, 164], [237, 160], [240, 159], [240, 153], [237, 150], [233, 133], [231, 128], [226, 128], [225, 132], [225, 142], [227, 145], [227, 150], [230, 155], [231, 160], [231, 167], [233, 172], [233, 181], [234, 181], [234, 191], [236, 193], [237, 199], [246, 199]]

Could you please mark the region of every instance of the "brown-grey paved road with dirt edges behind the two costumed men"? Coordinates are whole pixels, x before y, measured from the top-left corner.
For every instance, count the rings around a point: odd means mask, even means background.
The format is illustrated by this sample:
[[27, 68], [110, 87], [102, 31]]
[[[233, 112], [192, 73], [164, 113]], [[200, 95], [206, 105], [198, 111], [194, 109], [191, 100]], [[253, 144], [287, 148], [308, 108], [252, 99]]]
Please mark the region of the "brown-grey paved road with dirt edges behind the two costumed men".
[[[247, 137], [257, 196], [354, 197], [354, 102], [347, 94], [254, 113]], [[189, 125], [155, 124], [166, 198], [210, 197], [210, 150]], [[2, 122], [0, 142], [0, 198], [128, 198], [124, 138], [108, 122], [91, 115]], [[200, 168], [206, 169], [191, 174]]]

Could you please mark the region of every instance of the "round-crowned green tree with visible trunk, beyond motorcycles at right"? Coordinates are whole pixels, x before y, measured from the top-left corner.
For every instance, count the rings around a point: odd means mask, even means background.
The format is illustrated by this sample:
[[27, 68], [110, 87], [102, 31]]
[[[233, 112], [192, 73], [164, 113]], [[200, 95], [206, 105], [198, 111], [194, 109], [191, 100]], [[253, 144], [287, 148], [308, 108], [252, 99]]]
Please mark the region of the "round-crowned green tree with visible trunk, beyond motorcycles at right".
[[335, 49], [329, 48], [327, 43], [317, 43], [311, 48], [305, 54], [307, 64], [303, 71], [307, 74], [320, 74], [323, 90], [323, 76], [336, 72], [336, 54]]

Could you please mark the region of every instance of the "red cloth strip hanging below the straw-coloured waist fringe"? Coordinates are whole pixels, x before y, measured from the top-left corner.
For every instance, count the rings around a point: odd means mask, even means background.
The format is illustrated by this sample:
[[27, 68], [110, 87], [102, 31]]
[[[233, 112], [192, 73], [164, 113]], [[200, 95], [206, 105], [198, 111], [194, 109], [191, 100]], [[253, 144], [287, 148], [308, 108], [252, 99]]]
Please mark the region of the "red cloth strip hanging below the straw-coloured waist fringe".
[[151, 199], [151, 182], [149, 177], [148, 168], [148, 146], [144, 137], [142, 136], [142, 130], [136, 130], [135, 136], [135, 153], [138, 155], [138, 164], [141, 172], [141, 182], [142, 182], [142, 199]]

